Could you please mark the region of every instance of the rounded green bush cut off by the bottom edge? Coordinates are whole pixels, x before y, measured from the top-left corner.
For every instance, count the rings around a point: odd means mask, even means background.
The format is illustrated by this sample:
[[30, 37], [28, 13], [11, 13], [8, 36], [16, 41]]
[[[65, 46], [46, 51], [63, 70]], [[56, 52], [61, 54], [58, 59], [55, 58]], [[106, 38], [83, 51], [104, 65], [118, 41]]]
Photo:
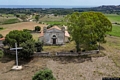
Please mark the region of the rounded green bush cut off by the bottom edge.
[[52, 71], [49, 69], [40, 70], [36, 73], [32, 80], [56, 80], [52, 74]]

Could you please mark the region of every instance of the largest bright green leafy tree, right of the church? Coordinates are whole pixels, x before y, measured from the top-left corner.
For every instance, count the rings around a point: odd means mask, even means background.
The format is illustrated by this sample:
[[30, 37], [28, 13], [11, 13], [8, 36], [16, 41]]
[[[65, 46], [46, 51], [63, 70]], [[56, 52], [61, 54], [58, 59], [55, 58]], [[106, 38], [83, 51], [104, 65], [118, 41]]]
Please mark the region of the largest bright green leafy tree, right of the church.
[[77, 52], [80, 45], [87, 47], [104, 42], [105, 34], [112, 30], [111, 22], [100, 12], [74, 12], [65, 17], [68, 31], [76, 43]]

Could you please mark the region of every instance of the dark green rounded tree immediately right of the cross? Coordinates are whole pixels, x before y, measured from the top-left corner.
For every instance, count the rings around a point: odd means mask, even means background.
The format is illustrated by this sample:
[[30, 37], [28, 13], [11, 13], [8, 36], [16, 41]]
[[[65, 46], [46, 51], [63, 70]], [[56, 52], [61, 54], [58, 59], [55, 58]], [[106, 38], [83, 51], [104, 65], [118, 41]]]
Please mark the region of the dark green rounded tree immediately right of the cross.
[[35, 41], [34, 40], [27, 40], [20, 44], [20, 46], [23, 48], [20, 51], [20, 56], [24, 59], [29, 59], [33, 55], [35, 51]]

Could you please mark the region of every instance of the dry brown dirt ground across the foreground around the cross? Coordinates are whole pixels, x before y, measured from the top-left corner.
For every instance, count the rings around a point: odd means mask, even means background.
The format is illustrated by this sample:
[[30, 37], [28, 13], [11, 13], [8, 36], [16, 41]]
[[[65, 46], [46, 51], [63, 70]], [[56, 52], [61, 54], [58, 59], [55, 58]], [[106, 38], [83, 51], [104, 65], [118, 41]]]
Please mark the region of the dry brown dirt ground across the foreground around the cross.
[[114, 61], [114, 54], [120, 56], [120, 46], [115, 46], [120, 38], [108, 36], [107, 41], [102, 44], [104, 49], [100, 54], [88, 57], [36, 57], [22, 64], [23, 70], [20, 71], [11, 70], [14, 60], [6, 59], [4, 62], [3, 59], [0, 61], [0, 80], [32, 80], [32, 76], [43, 68], [51, 69], [57, 80], [102, 80], [102, 77], [120, 77], [120, 67], [116, 65], [120, 62]]

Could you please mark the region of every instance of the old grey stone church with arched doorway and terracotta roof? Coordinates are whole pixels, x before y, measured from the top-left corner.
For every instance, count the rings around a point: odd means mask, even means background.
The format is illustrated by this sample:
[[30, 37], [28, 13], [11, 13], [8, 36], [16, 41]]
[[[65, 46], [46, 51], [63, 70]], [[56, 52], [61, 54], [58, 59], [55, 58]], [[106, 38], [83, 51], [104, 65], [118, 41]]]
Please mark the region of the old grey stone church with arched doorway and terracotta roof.
[[69, 42], [70, 35], [65, 27], [59, 28], [58, 26], [53, 26], [49, 29], [47, 27], [43, 28], [40, 34], [39, 40], [45, 45], [62, 45]]

